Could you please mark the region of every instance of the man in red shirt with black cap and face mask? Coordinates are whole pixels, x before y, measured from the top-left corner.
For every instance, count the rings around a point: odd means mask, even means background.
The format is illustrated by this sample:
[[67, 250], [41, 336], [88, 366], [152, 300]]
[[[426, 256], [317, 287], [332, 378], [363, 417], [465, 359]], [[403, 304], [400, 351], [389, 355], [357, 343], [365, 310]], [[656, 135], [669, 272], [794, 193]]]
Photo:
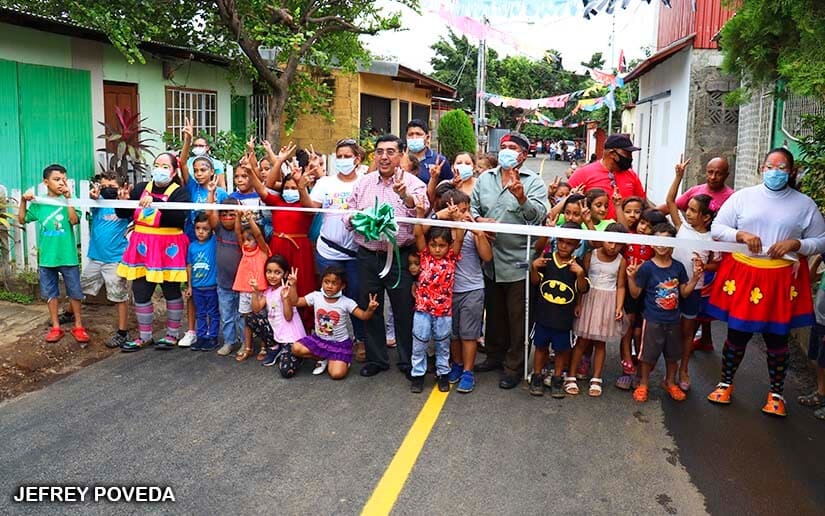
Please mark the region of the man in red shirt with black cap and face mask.
[[[640, 150], [625, 134], [611, 134], [604, 142], [602, 159], [577, 169], [567, 182], [572, 188], [584, 185], [584, 191], [601, 188], [608, 196], [619, 190], [622, 199], [640, 197], [646, 199], [645, 189], [639, 176], [631, 169], [633, 152]], [[616, 209], [609, 203], [607, 218], [616, 218]]]

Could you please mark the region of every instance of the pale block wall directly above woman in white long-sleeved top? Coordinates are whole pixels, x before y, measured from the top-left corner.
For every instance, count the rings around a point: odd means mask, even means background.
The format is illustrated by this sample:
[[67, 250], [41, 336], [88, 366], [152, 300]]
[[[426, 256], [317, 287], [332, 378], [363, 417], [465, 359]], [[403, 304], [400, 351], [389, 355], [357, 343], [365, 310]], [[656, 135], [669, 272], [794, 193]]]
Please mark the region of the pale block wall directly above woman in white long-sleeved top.
[[736, 166], [733, 187], [737, 190], [762, 181], [762, 158], [771, 148], [774, 112], [773, 87], [754, 90], [751, 100], [739, 106]]

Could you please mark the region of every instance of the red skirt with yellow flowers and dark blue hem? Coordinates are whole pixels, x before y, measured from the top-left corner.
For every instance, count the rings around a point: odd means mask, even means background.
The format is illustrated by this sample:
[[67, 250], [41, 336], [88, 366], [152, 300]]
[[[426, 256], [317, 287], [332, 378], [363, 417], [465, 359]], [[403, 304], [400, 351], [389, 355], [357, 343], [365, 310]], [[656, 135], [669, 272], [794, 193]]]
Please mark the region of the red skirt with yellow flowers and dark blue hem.
[[[796, 269], [796, 270], [795, 270]], [[814, 323], [808, 261], [726, 256], [716, 273], [707, 313], [748, 333], [787, 335]]]

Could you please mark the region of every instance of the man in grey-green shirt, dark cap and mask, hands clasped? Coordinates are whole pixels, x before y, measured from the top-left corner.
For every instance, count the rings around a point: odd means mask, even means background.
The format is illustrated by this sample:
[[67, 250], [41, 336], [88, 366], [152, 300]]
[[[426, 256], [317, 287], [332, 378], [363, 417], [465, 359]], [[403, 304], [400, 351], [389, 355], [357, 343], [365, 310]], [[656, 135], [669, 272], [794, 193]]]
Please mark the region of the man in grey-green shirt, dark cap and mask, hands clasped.
[[[538, 174], [521, 167], [530, 141], [520, 133], [501, 138], [499, 166], [480, 175], [470, 195], [476, 222], [503, 222], [540, 226], [547, 216], [547, 187]], [[519, 384], [524, 367], [524, 278], [529, 263], [527, 237], [497, 233], [493, 261], [483, 265], [487, 331], [487, 359], [476, 371], [504, 369], [502, 389]]]

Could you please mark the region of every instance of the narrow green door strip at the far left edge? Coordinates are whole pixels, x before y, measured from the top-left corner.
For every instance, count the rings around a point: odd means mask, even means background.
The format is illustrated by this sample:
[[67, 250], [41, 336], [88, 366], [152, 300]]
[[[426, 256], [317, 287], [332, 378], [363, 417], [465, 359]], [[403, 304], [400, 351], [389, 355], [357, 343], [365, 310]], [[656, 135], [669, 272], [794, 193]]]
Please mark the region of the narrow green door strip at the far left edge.
[[17, 63], [0, 59], [0, 185], [20, 188], [20, 119]]

